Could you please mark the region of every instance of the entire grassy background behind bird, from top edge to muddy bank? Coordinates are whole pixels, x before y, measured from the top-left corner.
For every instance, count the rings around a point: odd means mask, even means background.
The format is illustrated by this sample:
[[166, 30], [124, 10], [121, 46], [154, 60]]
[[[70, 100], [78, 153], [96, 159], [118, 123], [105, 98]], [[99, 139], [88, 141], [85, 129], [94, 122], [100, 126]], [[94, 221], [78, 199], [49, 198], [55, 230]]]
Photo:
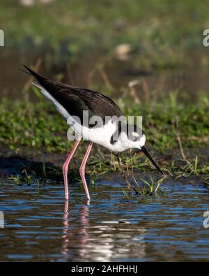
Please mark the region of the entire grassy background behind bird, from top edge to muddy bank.
[[20, 71], [26, 64], [111, 96], [125, 114], [144, 115], [158, 150], [178, 146], [176, 117], [186, 146], [207, 143], [207, 7], [206, 0], [1, 0], [0, 142], [67, 145], [46, 132], [50, 126], [65, 138], [67, 126]]

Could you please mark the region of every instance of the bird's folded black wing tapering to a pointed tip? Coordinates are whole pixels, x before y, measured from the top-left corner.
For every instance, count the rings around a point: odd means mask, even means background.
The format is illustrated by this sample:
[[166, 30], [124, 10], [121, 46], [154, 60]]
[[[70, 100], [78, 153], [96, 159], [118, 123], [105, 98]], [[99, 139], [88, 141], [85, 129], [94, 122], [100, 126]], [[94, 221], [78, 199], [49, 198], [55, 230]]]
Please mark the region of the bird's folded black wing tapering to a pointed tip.
[[90, 89], [72, 87], [63, 83], [43, 78], [38, 73], [24, 66], [33, 75], [38, 83], [58, 101], [71, 116], [77, 116], [83, 124], [83, 110], [88, 110], [89, 117], [100, 116], [104, 122], [105, 117], [121, 117], [123, 113], [116, 103], [109, 97]]

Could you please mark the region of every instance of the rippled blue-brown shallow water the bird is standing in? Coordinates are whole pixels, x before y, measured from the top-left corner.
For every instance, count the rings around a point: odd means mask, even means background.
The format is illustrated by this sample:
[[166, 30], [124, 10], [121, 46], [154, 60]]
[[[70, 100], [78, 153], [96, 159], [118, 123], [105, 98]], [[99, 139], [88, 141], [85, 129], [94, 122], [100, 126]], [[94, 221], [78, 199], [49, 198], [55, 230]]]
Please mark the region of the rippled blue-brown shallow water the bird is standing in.
[[208, 261], [207, 186], [164, 184], [157, 196], [123, 197], [121, 185], [1, 184], [0, 261]]

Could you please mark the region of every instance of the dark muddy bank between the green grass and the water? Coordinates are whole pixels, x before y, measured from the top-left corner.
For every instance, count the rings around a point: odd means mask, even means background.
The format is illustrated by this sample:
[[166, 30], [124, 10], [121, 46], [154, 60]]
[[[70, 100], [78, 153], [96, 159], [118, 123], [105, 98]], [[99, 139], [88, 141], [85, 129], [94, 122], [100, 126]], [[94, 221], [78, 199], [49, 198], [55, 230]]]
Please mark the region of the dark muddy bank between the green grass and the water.
[[[69, 149], [70, 150], [70, 149]], [[85, 147], [82, 149], [85, 150]], [[98, 147], [95, 146], [93, 148], [93, 152], [91, 157], [88, 161], [88, 168], [87, 168], [87, 177], [91, 175], [91, 170], [94, 169], [94, 162], [92, 159], [95, 159], [95, 153], [98, 151]], [[169, 176], [169, 170], [173, 168], [173, 164], [177, 168], [183, 168], [185, 166], [185, 161], [183, 161], [183, 157], [180, 155], [180, 151], [177, 150], [168, 150], [164, 152], [164, 154], [160, 154], [159, 152], [152, 151], [155, 159], [157, 160], [158, 164], [161, 168], [166, 168], [168, 171], [165, 171]], [[107, 153], [107, 154], [106, 154]], [[103, 154], [103, 153], [102, 153]], [[205, 166], [207, 168], [209, 164], [209, 148], [200, 148], [200, 149], [186, 149], [185, 150], [186, 157], [188, 159], [195, 159], [198, 157], [198, 166]], [[62, 165], [65, 161], [68, 152], [65, 154], [59, 152], [45, 152], [43, 149], [35, 150], [29, 147], [21, 147], [18, 150], [11, 150], [6, 145], [0, 146], [0, 180], [1, 182], [13, 182], [10, 179], [11, 176], [16, 177], [19, 175], [20, 177], [26, 177], [30, 175], [32, 178], [37, 178], [40, 180], [44, 180], [46, 182], [57, 182], [62, 181]], [[142, 156], [143, 154], [141, 154]], [[140, 157], [140, 155], [139, 155]], [[111, 157], [108, 152], [105, 152], [102, 155], [104, 160], [100, 160], [101, 163], [106, 164], [109, 166], [109, 170], [105, 169], [104, 174], [100, 175], [98, 173], [98, 179], [102, 177], [102, 180], [112, 180], [116, 182], [123, 182], [123, 177], [121, 177], [120, 173], [118, 173], [118, 169], [116, 168], [115, 171], [112, 170], [113, 163], [111, 164]], [[72, 159], [72, 163], [70, 165], [70, 177], [72, 180], [77, 180], [79, 177], [79, 164], [82, 160], [82, 153], [78, 153], [75, 155], [75, 158]], [[139, 163], [142, 162], [144, 159], [139, 159]], [[117, 162], [114, 161], [114, 165], [117, 166]], [[151, 167], [150, 167], [151, 168]], [[148, 177], [149, 175], [156, 175], [158, 176], [155, 170], [147, 170], [146, 167], [141, 166], [141, 168], [135, 168], [134, 173], [136, 177]], [[181, 175], [178, 175], [180, 177]], [[189, 182], [196, 180], [201, 180], [203, 176], [204, 179], [207, 178], [207, 174], [204, 171], [201, 173], [191, 173], [189, 177], [180, 177], [181, 180], [188, 180]], [[94, 176], [95, 177], [95, 176]], [[169, 176], [171, 177], [171, 175]], [[176, 175], [173, 175], [172, 178], [175, 179]], [[97, 179], [97, 177], [95, 177]], [[22, 180], [24, 181], [24, 179]]]

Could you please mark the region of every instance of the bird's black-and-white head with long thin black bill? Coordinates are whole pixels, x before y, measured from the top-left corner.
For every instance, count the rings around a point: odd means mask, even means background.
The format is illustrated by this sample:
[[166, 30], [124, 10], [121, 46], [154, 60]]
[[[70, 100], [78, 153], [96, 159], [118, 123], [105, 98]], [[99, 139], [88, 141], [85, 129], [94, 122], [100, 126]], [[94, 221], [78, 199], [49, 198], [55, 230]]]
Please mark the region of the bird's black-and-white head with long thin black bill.
[[121, 134], [119, 136], [119, 140], [123, 147], [126, 149], [134, 149], [137, 152], [143, 152], [146, 157], [151, 161], [153, 166], [162, 174], [162, 170], [157, 166], [155, 160], [153, 157], [150, 156], [148, 150], [146, 150], [145, 142], [146, 142], [146, 136], [144, 131], [142, 131], [139, 126], [136, 126], [134, 124], [124, 124], [121, 127]]

